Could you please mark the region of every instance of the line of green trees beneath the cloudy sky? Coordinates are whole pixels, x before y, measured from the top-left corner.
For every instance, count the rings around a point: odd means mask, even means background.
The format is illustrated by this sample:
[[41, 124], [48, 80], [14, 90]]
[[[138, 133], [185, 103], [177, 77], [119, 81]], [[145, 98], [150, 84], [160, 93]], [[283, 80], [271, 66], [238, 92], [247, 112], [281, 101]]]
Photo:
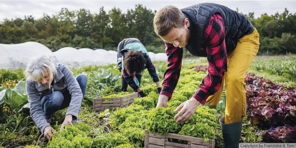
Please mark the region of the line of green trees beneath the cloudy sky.
[[[98, 14], [92, 14], [88, 9], [69, 11], [62, 8], [52, 16], [43, 14], [39, 19], [32, 15], [24, 19], [6, 18], [0, 22], [0, 43], [34, 41], [52, 51], [63, 47], [117, 50], [122, 39], [139, 38], [148, 51], [163, 53], [164, 43], [154, 33], [155, 13], [156, 10], [135, 5], [126, 13], [115, 7], [108, 12], [101, 7]], [[282, 14], [261, 14], [260, 18], [254, 18], [254, 13], [245, 16], [260, 34], [259, 55], [296, 53], [296, 13], [285, 9]], [[184, 56], [191, 55], [184, 52]]]

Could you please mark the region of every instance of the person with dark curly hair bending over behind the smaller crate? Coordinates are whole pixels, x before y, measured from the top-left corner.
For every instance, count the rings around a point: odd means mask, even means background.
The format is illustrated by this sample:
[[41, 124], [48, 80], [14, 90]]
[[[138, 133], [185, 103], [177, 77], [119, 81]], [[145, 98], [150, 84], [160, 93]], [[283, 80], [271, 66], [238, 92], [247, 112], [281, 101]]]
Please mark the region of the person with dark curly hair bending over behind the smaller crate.
[[118, 69], [122, 71], [122, 91], [127, 91], [127, 85], [129, 85], [134, 89], [134, 92], [137, 91], [140, 94], [140, 97], [145, 97], [146, 95], [140, 88], [140, 82], [142, 78], [141, 72], [147, 68], [157, 86], [158, 93], [160, 93], [161, 88], [155, 67], [146, 48], [138, 38], [125, 38], [118, 44], [117, 52]]

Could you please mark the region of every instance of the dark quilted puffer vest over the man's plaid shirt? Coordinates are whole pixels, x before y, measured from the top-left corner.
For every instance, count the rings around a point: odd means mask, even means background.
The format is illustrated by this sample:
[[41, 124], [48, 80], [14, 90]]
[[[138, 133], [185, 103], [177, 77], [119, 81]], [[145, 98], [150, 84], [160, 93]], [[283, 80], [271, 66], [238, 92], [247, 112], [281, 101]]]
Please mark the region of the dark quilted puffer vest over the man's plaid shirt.
[[225, 44], [227, 53], [236, 48], [238, 39], [254, 30], [252, 23], [241, 13], [237, 13], [226, 6], [213, 3], [200, 3], [181, 9], [188, 18], [190, 26], [190, 39], [185, 47], [191, 54], [207, 57], [204, 31], [209, 20], [215, 13], [220, 13], [224, 19]]

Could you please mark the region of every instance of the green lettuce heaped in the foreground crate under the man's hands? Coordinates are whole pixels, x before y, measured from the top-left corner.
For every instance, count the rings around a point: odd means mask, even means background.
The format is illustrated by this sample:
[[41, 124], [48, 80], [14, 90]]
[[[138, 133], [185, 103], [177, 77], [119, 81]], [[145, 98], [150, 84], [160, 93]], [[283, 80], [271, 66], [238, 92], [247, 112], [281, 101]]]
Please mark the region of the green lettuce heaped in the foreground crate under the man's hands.
[[204, 108], [203, 106], [197, 107], [196, 110], [195, 114], [189, 120], [177, 123], [173, 120], [177, 112], [173, 111], [171, 107], [157, 107], [150, 112], [150, 116], [146, 122], [147, 129], [150, 133], [159, 132], [160, 135], [163, 134], [164, 136], [167, 133], [175, 133], [204, 138], [205, 142], [208, 142], [215, 135], [214, 127], [217, 126], [217, 119], [215, 117], [212, 118], [212, 114], [210, 114], [215, 111]]

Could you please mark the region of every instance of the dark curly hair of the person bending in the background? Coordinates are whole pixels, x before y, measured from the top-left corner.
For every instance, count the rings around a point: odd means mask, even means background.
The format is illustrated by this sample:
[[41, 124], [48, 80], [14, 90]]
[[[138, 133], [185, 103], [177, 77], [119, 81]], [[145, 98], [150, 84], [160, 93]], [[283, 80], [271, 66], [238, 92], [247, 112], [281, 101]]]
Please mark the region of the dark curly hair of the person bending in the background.
[[142, 72], [144, 70], [144, 64], [146, 64], [146, 59], [141, 51], [129, 50], [124, 57], [124, 69], [127, 74], [131, 75]]

